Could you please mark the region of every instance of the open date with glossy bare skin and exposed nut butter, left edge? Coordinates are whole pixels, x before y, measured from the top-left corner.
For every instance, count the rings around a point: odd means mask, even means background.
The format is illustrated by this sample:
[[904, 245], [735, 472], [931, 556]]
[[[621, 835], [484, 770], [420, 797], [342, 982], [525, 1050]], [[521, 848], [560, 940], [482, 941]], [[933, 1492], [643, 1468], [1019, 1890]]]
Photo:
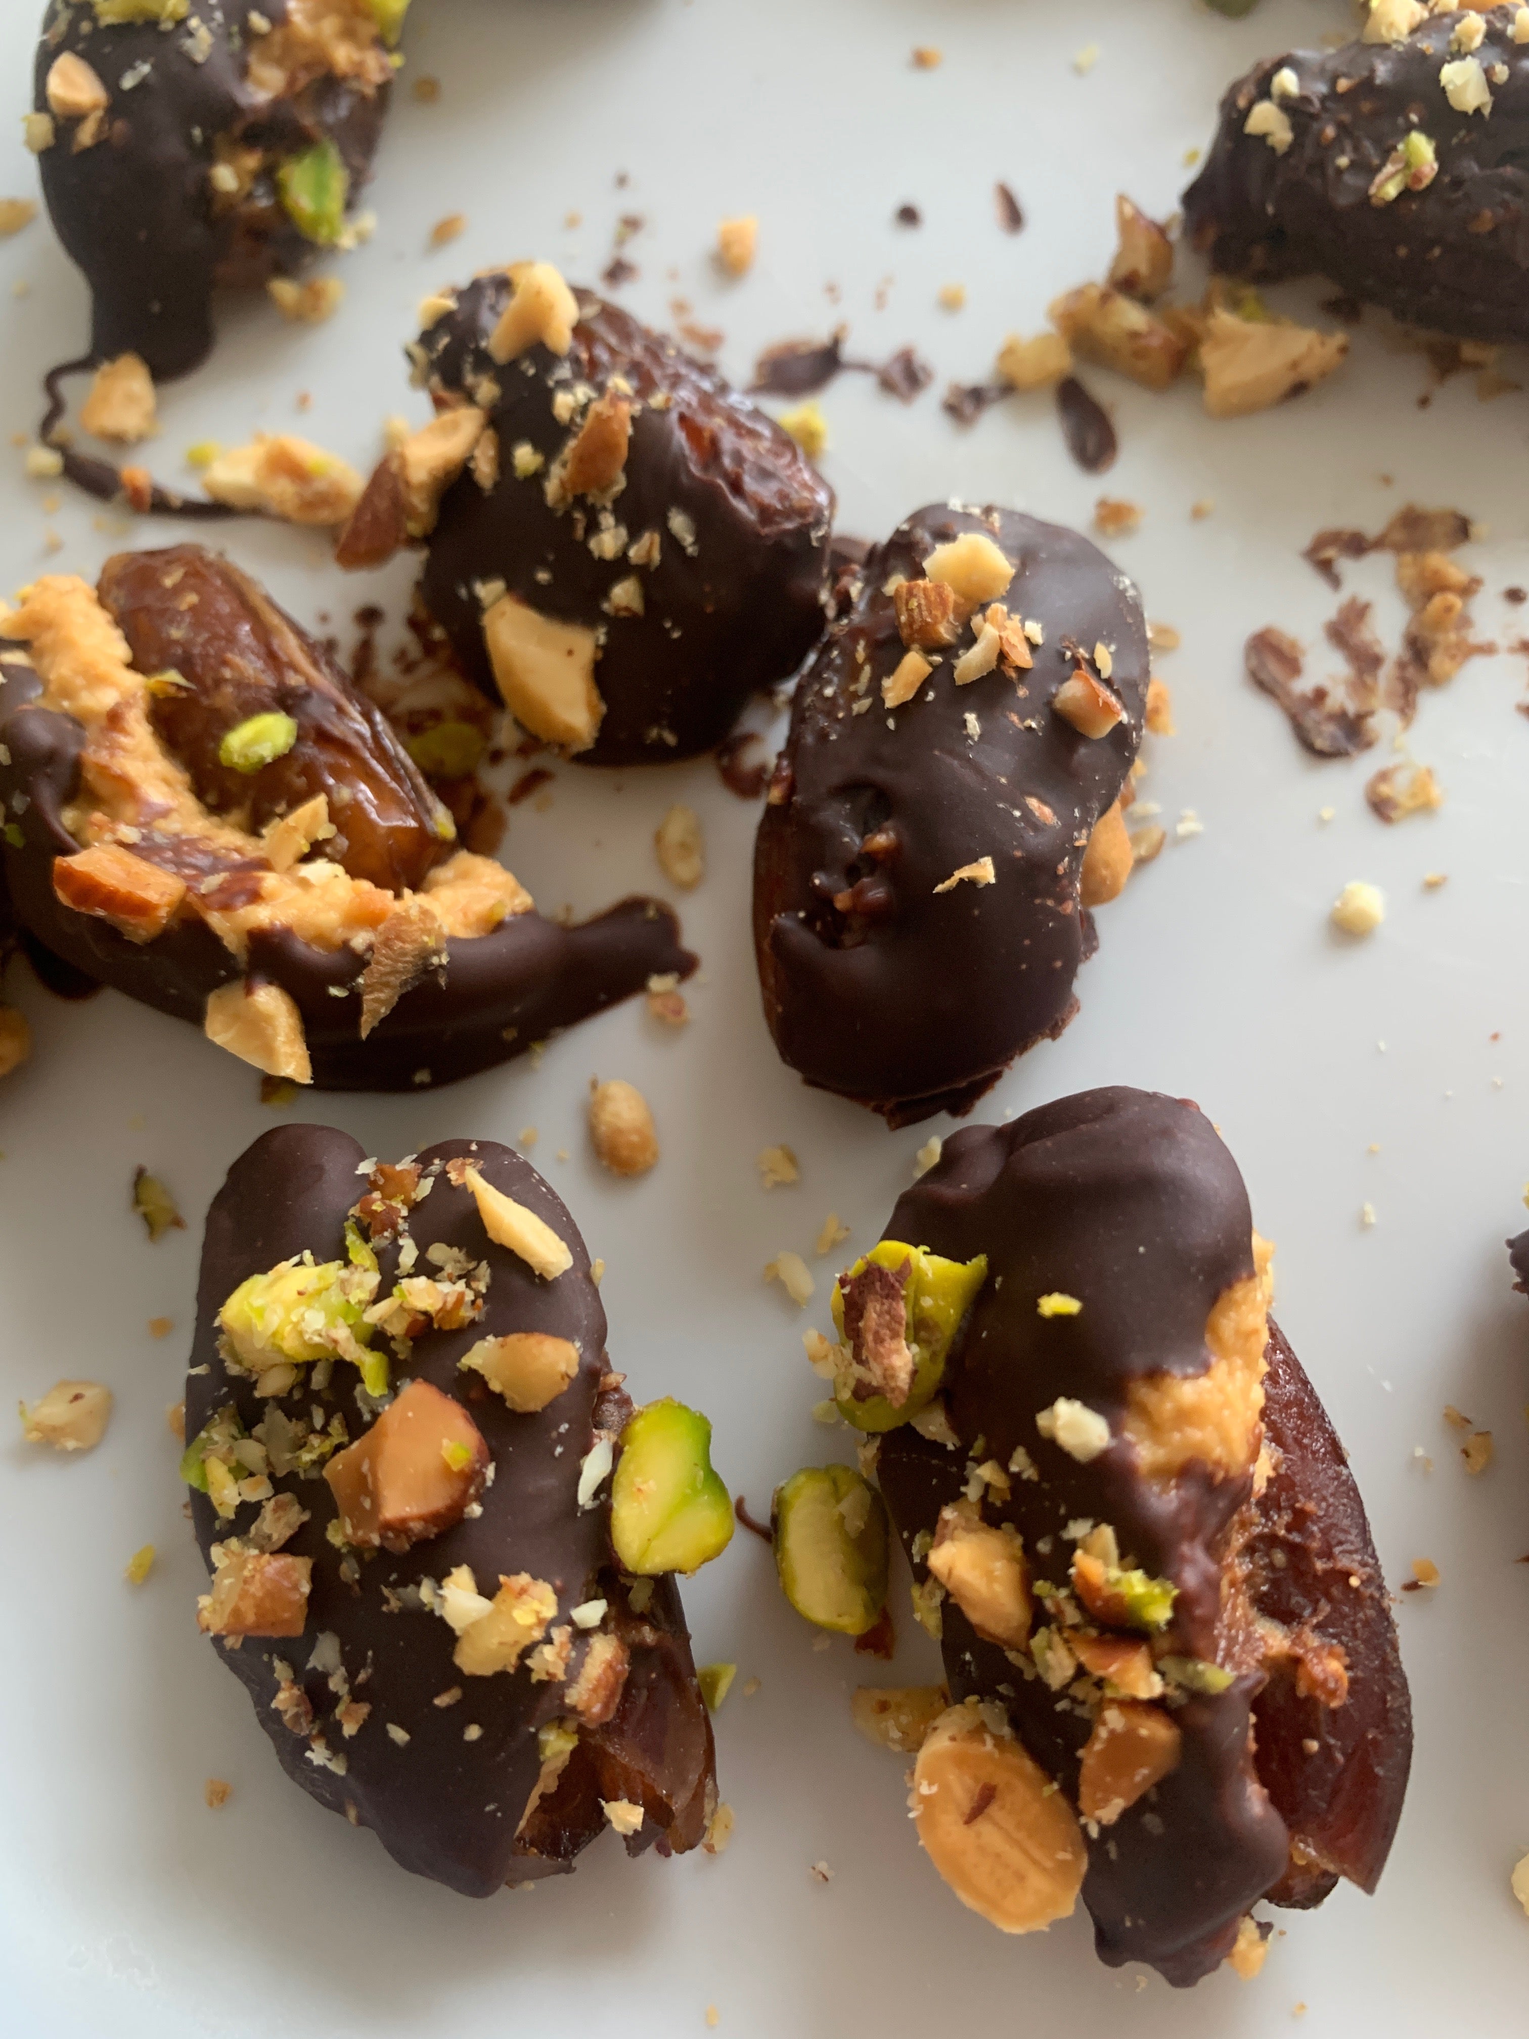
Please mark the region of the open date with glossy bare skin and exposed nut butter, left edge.
[[457, 846], [381, 714], [200, 546], [49, 575], [0, 618], [18, 924], [263, 1075], [422, 1089], [687, 977], [673, 913], [536, 913]]

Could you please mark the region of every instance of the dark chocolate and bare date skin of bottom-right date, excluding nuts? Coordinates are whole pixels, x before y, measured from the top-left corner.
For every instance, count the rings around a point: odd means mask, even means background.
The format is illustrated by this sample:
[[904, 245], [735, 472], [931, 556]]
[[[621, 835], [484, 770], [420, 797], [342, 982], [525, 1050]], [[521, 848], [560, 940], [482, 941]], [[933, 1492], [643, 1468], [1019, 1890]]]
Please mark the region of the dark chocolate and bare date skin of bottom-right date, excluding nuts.
[[[1176, 1584], [1174, 1654], [1225, 1660], [1229, 1554], [1250, 1552], [1258, 1613], [1295, 1613], [1323, 1637], [1329, 1568], [1352, 1566], [1362, 1578], [1362, 1590], [1343, 1586], [1333, 1615], [1331, 1639], [1348, 1645], [1354, 1682], [1348, 1707], [1321, 1723], [1311, 1784], [1293, 1774], [1301, 1737], [1317, 1733], [1305, 1703], [1295, 1705], [1293, 1686], [1264, 1686], [1246, 1648], [1231, 1650], [1237, 1676], [1225, 1692], [1174, 1709], [1178, 1768], [1089, 1841], [1083, 1896], [1101, 1959], [1142, 1959], [1184, 1986], [1209, 1974], [1248, 1909], [1278, 1894], [1293, 1831], [1370, 1888], [1401, 1811], [1411, 1717], [1364, 1509], [1305, 1374], [1272, 1331], [1266, 1442], [1286, 1456], [1260, 1505], [1252, 1474], [1215, 1478], [1191, 1464], [1172, 1482], [1144, 1480], [1121, 1431], [1131, 1380], [1209, 1366], [1211, 1305], [1254, 1272], [1248, 1193], [1211, 1121], [1180, 1099], [1105, 1089], [1042, 1105], [1013, 1126], [968, 1128], [899, 1199], [885, 1236], [954, 1260], [989, 1256], [946, 1370], [948, 1417], [966, 1450], [930, 1444], [911, 1427], [881, 1446], [881, 1488], [919, 1580], [926, 1564], [913, 1539], [960, 1497], [977, 1437], [985, 1458], [1007, 1464], [1023, 1446], [1038, 1468], [1038, 1480], [1015, 1478], [1007, 1501], [989, 1497], [985, 1507], [989, 1521], [1019, 1529], [1034, 1574], [1066, 1580], [1066, 1523], [1109, 1523], [1123, 1562]], [[1078, 1297], [1083, 1311], [1040, 1317], [1036, 1299], [1054, 1291]], [[1085, 1401], [1115, 1431], [1087, 1464], [1036, 1429], [1036, 1413], [1060, 1395]], [[1288, 1572], [1264, 1564], [1278, 1539]], [[1017, 1676], [954, 1601], [942, 1603], [942, 1617], [952, 1698], [1001, 1696], [1030, 1754], [1074, 1796], [1091, 1723], [1058, 1711], [1040, 1678]], [[1254, 1768], [1254, 1713], [1260, 1758], [1266, 1733], [1274, 1752], [1268, 1778], [1262, 1762]]]

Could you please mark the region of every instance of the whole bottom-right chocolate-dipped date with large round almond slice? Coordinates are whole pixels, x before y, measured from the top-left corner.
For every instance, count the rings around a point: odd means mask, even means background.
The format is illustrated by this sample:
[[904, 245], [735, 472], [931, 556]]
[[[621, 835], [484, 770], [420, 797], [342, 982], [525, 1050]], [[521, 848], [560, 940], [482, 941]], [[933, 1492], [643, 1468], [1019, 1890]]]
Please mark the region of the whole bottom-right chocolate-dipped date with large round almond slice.
[[1129, 1089], [956, 1134], [840, 1276], [840, 1382], [915, 1336], [881, 1278], [907, 1242], [981, 1270], [875, 1466], [950, 1686], [919, 1839], [1005, 1931], [1080, 1896], [1113, 1966], [1250, 1974], [1254, 1904], [1374, 1890], [1411, 1703], [1237, 1166], [1193, 1103]]

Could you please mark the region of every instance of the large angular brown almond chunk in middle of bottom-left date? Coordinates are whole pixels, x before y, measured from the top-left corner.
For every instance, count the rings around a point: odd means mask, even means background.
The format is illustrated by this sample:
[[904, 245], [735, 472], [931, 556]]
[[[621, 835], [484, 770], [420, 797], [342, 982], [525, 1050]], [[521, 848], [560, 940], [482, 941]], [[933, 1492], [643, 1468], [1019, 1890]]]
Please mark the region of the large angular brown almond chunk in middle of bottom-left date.
[[363, 1437], [330, 1458], [324, 1478], [351, 1544], [404, 1552], [459, 1523], [487, 1470], [489, 1448], [463, 1405], [410, 1380]]

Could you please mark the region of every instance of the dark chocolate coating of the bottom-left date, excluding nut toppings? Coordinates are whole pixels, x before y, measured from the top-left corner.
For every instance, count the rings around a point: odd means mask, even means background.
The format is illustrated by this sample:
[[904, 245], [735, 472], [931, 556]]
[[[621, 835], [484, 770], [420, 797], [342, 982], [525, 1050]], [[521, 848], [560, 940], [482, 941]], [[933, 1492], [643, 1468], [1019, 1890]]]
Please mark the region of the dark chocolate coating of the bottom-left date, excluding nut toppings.
[[[595, 1507], [579, 1509], [577, 1501], [581, 1460], [595, 1442], [595, 1429], [612, 1413], [620, 1427], [626, 1405], [620, 1395], [601, 1397], [605, 1311], [585, 1244], [559, 1197], [510, 1148], [491, 1140], [444, 1140], [416, 1160], [428, 1170], [455, 1156], [471, 1156], [495, 1189], [530, 1207], [573, 1252], [567, 1274], [552, 1283], [538, 1280], [516, 1254], [487, 1240], [471, 1191], [455, 1189], [444, 1172], [410, 1213], [422, 1270], [426, 1248], [436, 1242], [487, 1260], [493, 1270], [477, 1323], [461, 1331], [426, 1331], [414, 1342], [408, 1364], [412, 1378], [463, 1401], [483, 1433], [495, 1476], [479, 1497], [481, 1515], [402, 1556], [379, 1552], [361, 1558], [359, 1580], [347, 1584], [340, 1552], [324, 1533], [336, 1513], [326, 1480], [322, 1474], [277, 1478], [277, 1493], [296, 1495], [312, 1517], [283, 1546], [292, 1556], [314, 1560], [308, 1627], [294, 1639], [251, 1637], [239, 1650], [214, 1648], [249, 1690], [255, 1715], [294, 1782], [330, 1811], [373, 1827], [406, 1870], [465, 1896], [489, 1896], [506, 1882], [567, 1870], [605, 1825], [599, 1796], [628, 1796], [648, 1811], [638, 1833], [626, 1841], [628, 1853], [642, 1853], [658, 1839], [673, 1851], [693, 1847], [701, 1839], [707, 1798], [716, 1794], [716, 1772], [711, 1725], [673, 1578], [654, 1582], [644, 1615], [632, 1613], [610, 1550], [610, 1488]], [[316, 1260], [345, 1258], [345, 1215], [367, 1189], [365, 1177], [357, 1174], [359, 1160], [361, 1148], [349, 1134], [324, 1126], [281, 1126], [263, 1134], [228, 1170], [208, 1211], [202, 1246], [196, 1344], [186, 1380], [188, 1437], [230, 1401], [247, 1427], [263, 1419], [269, 1403], [257, 1399], [255, 1382], [224, 1372], [218, 1309], [249, 1274], [265, 1272], [292, 1254], [312, 1250]], [[396, 1258], [396, 1246], [379, 1246], [383, 1293]], [[457, 1372], [457, 1360], [479, 1338], [508, 1331], [542, 1331], [579, 1348], [583, 1364], [575, 1380], [538, 1415], [512, 1413], [483, 1382], [475, 1389], [465, 1384], [475, 1376]], [[398, 1366], [393, 1372], [398, 1387]], [[292, 1407], [316, 1403], [326, 1421], [338, 1411], [355, 1437], [365, 1427], [357, 1419], [355, 1380], [355, 1368], [336, 1362], [328, 1389], [314, 1391], [306, 1380]], [[234, 1523], [218, 1521], [208, 1497], [192, 1493], [192, 1519], [204, 1556], [212, 1544], [247, 1531], [253, 1517], [249, 1505], [241, 1507]], [[383, 1584], [402, 1592], [422, 1578], [438, 1582], [459, 1564], [471, 1566], [479, 1588], [489, 1594], [502, 1572], [530, 1572], [546, 1580], [557, 1588], [563, 1621], [569, 1609], [608, 1599], [610, 1627], [622, 1633], [632, 1654], [614, 1719], [583, 1731], [559, 1790], [538, 1807], [540, 1853], [516, 1847], [516, 1825], [540, 1770], [536, 1729], [567, 1713], [563, 1684], [534, 1684], [524, 1662], [516, 1672], [463, 1676], [453, 1664], [455, 1635], [442, 1619], [424, 1609], [389, 1613], [383, 1599]], [[326, 1676], [304, 1670], [322, 1631], [338, 1637], [353, 1696], [371, 1703], [371, 1717], [351, 1739], [330, 1719], [336, 1694]], [[275, 1658], [298, 1674], [314, 1709], [314, 1733], [345, 1758], [342, 1776], [312, 1764], [310, 1737], [294, 1733], [271, 1711]], [[581, 1658], [575, 1648], [571, 1676], [577, 1676]], [[363, 1666], [371, 1666], [371, 1674], [357, 1682]], [[453, 1686], [461, 1686], [463, 1696], [451, 1707], [436, 1707], [434, 1696]], [[406, 1745], [387, 1735], [387, 1723], [408, 1733]], [[467, 1741], [467, 1725], [479, 1725], [481, 1737]]]

